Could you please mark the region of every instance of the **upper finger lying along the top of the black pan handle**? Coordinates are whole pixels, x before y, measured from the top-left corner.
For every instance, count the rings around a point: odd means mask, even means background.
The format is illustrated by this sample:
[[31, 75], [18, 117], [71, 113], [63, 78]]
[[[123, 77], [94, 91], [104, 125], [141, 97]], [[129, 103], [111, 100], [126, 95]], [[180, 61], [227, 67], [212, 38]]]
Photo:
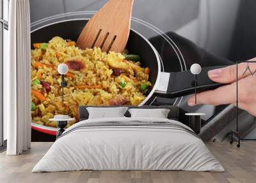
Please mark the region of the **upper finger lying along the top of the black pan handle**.
[[[248, 61], [256, 61], [256, 58], [253, 58]], [[247, 70], [244, 73], [247, 65], [248, 63], [239, 63], [238, 67], [236, 67], [236, 65], [231, 65], [224, 68], [209, 70], [208, 76], [212, 81], [215, 81], [218, 83], [233, 83], [234, 81], [236, 81], [237, 77], [238, 79], [241, 79], [243, 77], [251, 75], [256, 71], [256, 63], [249, 63], [250, 70]], [[238, 69], [238, 72], [236, 69]], [[237, 76], [236, 76], [236, 72], [237, 72]]]

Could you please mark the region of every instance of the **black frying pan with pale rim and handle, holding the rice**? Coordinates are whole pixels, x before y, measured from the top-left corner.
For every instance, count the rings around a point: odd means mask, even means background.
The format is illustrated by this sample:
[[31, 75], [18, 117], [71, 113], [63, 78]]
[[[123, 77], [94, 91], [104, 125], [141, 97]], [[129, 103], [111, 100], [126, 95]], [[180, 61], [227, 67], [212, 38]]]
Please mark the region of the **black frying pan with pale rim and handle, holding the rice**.
[[[64, 39], [76, 41], [86, 22], [88, 20], [64, 20], [35, 29], [31, 31], [31, 45], [38, 42], [49, 42], [54, 36], [61, 36]], [[194, 92], [195, 81], [193, 74], [189, 70], [172, 73], [161, 72], [160, 60], [156, 49], [143, 35], [133, 29], [130, 31], [127, 49], [132, 54], [140, 55], [143, 67], [150, 68], [148, 80], [152, 83], [152, 87], [149, 88], [146, 93], [147, 97], [139, 106], [146, 104], [153, 94], [173, 98]], [[198, 91], [220, 86], [220, 84], [212, 82], [207, 77], [207, 71], [213, 68], [216, 67], [202, 68], [196, 83]]]

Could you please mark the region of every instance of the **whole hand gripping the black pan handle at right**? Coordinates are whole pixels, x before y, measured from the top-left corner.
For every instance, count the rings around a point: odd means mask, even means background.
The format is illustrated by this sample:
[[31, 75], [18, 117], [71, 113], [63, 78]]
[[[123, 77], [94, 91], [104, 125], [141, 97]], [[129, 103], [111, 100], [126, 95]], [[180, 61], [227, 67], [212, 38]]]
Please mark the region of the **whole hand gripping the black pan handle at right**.
[[[250, 61], [256, 61], [253, 58]], [[256, 63], [249, 63], [250, 70], [243, 75], [246, 70], [247, 63], [238, 65], [238, 107], [248, 111], [248, 113], [256, 116]], [[210, 70], [208, 76], [212, 81], [217, 83], [225, 83], [227, 85], [220, 86], [215, 90], [198, 93], [196, 104], [209, 104], [218, 106], [221, 104], [236, 105], [236, 65], [225, 68]], [[188, 99], [189, 106], [195, 106], [195, 95]]]

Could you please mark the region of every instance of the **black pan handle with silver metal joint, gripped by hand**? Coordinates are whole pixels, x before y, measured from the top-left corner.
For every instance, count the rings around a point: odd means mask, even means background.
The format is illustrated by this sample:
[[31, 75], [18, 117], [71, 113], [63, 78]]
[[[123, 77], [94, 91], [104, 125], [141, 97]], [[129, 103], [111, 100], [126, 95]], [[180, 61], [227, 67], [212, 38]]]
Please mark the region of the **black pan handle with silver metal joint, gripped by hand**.
[[[197, 75], [196, 90], [203, 92], [222, 86], [209, 79], [208, 71], [225, 66], [203, 67]], [[182, 72], [160, 72], [160, 81], [154, 95], [158, 97], [175, 98], [195, 93], [195, 76], [190, 70]]]

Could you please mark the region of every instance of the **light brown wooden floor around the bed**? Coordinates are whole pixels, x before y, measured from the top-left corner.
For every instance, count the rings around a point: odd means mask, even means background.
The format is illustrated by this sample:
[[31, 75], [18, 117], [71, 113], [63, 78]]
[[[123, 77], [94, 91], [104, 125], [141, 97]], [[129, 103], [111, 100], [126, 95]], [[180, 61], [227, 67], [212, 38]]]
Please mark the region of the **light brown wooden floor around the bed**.
[[18, 156], [0, 154], [0, 182], [256, 182], [256, 142], [242, 142], [241, 148], [228, 143], [207, 143], [224, 166], [225, 172], [194, 171], [65, 171], [31, 173], [33, 166], [52, 143], [32, 143], [28, 152]]

